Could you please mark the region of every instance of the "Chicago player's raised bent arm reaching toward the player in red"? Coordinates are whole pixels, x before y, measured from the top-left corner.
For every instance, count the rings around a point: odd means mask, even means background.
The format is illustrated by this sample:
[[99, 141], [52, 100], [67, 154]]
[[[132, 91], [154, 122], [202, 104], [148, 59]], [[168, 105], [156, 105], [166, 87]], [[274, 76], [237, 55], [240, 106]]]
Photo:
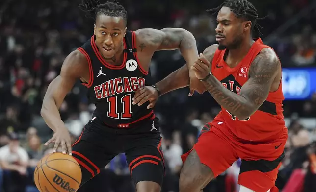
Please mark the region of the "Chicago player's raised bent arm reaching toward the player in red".
[[[198, 57], [194, 36], [191, 32], [182, 28], [163, 28], [161, 30], [152, 28], [139, 29], [136, 31], [136, 38], [137, 49], [140, 53], [146, 53], [142, 56], [148, 56], [150, 59], [157, 50], [175, 50], [178, 48], [188, 67], [192, 66]], [[188, 73], [182, 73], [181, 75], [183, 75], [182, 79], [187, 78], [190, 80], [191, 94], [193, 94], [193, 90], [199, 93], [203, 93], [206, 90], [190, 70]]]

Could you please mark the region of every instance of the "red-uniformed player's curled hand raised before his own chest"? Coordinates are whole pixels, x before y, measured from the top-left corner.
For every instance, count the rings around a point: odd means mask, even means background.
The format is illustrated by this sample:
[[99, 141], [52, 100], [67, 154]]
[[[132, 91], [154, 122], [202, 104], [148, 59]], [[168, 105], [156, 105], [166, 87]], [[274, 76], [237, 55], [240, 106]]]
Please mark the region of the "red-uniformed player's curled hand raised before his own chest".
[[195, 76], [198, 79], [204, 79], [211, 72], [211, 63], [205, 58], [202, 53], [200, 53], [200, 56], [191, 68], [195, 72]]

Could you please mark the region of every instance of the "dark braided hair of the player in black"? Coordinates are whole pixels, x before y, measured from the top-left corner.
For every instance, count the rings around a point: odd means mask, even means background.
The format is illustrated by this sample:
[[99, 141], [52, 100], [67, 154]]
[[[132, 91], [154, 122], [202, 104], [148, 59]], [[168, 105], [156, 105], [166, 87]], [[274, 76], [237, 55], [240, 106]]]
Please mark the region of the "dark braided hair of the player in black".
[[86, 17], [93, 18], [99, 15], [107, 15], [111, 17], [122, 17], [127, 21], [127, 11], [118, 2], [107, 1], [101, 4], [100, 0], [82, 0], [79, 9], [86, 13]]

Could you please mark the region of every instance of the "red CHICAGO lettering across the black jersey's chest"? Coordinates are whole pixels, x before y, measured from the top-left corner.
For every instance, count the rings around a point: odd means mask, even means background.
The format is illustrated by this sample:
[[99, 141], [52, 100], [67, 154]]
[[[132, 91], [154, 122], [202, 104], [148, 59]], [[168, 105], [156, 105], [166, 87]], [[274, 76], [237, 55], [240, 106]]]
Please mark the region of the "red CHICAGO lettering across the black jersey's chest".
[[143, 77], [118, 77], [95, 86], [94, 92], [97, 99], [102, 99], [115, 94], [136, 92], [145, 83]]

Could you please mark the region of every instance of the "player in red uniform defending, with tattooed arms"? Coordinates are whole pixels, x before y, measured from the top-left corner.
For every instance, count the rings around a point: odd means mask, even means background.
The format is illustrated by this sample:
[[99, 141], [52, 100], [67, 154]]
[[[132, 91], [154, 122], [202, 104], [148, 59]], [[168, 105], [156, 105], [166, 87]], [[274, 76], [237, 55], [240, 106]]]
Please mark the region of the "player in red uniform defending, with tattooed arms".
[[[222, 110], [204, 126], [193, 149], [182, 156], [180, 192], [200, 192], [238, 158], [242, 159], [240, 192], [277, 192], [274, 183], [288, 137], [280, 61], [261, 39], [252, 39], [259, 25], [250, 2], [227, 0], [210, 11], [218, 12], [219, 45], [206, 48], [192, 69]], [[156, 84], [161, 94], [185, 86], [168, 80], [181, 78], [181, 70]], [[172, 85], [166, 86], [168, 81]], [[140, 88], [134, 102], [156, 102], [154, 91]]]

